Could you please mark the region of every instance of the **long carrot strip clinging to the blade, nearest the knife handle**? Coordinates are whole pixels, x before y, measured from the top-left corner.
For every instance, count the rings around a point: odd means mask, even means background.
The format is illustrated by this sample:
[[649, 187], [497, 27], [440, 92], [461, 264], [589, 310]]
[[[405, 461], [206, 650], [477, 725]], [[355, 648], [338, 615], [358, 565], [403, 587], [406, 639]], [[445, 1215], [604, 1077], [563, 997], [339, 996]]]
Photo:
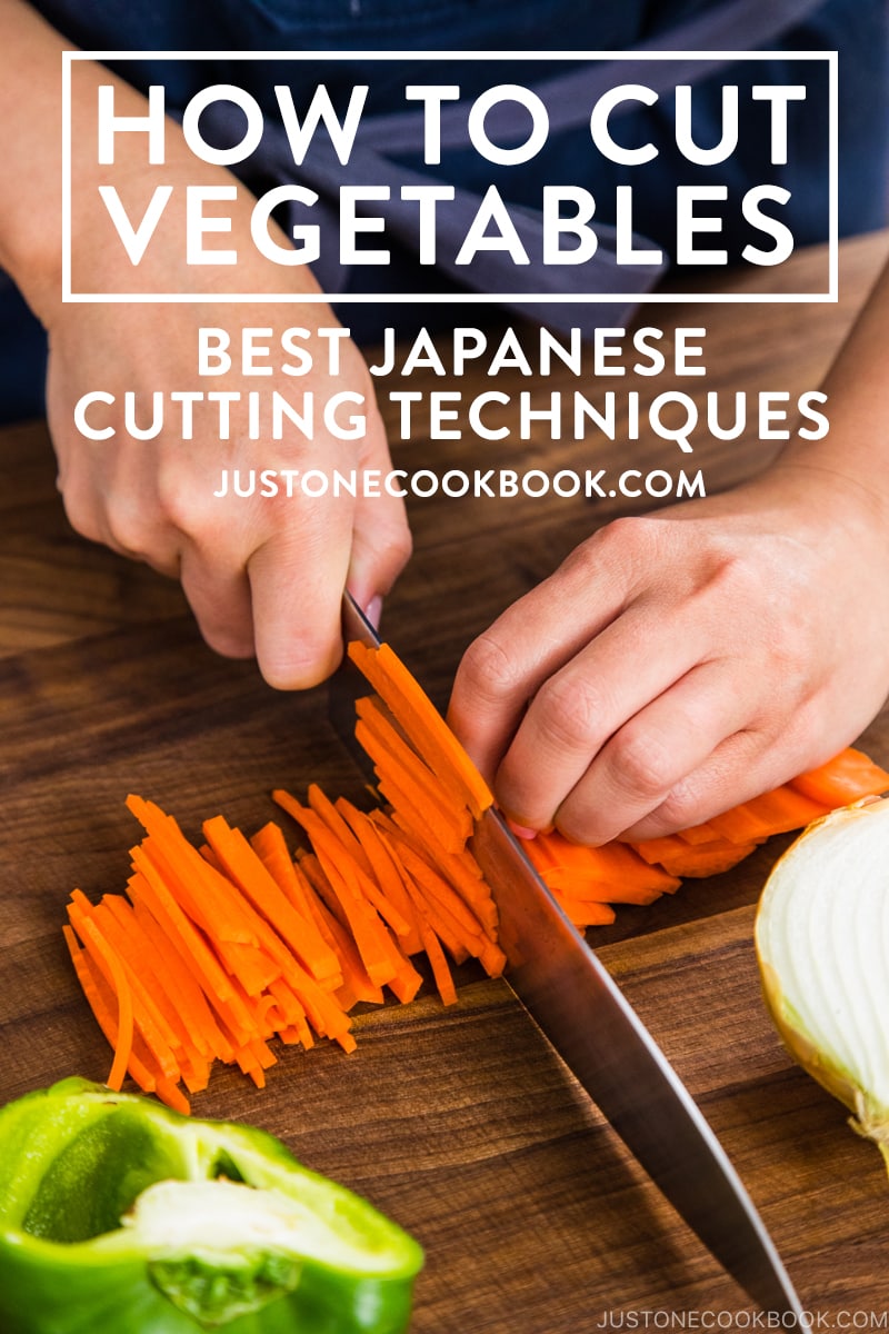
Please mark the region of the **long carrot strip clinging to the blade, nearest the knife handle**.
[[348, 651], [429, 768], [478, 818], [493, 802], [490, 788], [404, 663], [388, 644], [352, 643]]

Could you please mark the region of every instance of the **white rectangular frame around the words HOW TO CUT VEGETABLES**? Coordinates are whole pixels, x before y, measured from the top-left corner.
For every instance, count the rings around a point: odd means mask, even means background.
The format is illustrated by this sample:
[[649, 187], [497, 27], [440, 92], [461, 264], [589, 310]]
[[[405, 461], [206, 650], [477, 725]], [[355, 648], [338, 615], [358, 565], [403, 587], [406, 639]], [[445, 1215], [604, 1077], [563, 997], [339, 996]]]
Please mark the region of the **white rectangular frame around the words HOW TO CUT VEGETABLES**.
[[[534, 292], [484, 292], [448, 293], [436, 292], [359, 292], [355, 295], [299, 293], [299, 292], [219, 292], [213, 296], [192, 292], [75, 292], [71, 288], [71, 79], [72, 64], [76, 60], [92, 60], [105, 64], [124, 60], [826, 60], [829, 88], [829, 145], [828, 145], [828, 289], [826, 292], [609, 292], [598, 295], [585, 292], [534, 293]], [[328, 303], [336, 305], [368, 304], [371, 301], [391, 301], [404, 305], [427, 303], [437, 304], [481, 304], [493, 305], [505, 301], [510, 304], [564, 304], [585, 305], [590, 301], [602, 304], [670, 304], [674, 301], [694, 301], [713, 304], [794, 304], [830, 303], [840, 296], [838, 281], [838, 105], [836, 51], [64, 51], [61, 65], [61, 299], [69, 303], [89, 304], [187, 304], [205, 301], [209, 304], [255, 301], [255, 303]], [[778, 265], [780, 268], [780, 265]]]

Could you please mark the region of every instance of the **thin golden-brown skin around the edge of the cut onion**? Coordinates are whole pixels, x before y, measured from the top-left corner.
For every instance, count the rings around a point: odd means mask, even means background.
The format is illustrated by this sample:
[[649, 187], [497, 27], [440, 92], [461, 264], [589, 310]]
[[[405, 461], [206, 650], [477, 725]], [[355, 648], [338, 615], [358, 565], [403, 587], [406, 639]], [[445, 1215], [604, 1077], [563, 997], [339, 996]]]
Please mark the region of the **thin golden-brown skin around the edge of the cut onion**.
[[[837, 827], [852, 826], [872, 815], [882, 815], [886, 824], [886, 859], [889, 860], [889, 802], [865, 798], [852, 806], [841, 807], [804, 830], [790, 847], [776, 862], [769, 879], [760, 898], [756, 918], [756, 952], [760, 966], [760, 980], [762, 983], [762, 996], [766, 1010], [777, 1029], [778, 1037], [786, 1047], [793, 1061], [800, 1065], [806, 1074], [816, 1079], [822, 1089], [837, 1098], [853, 1114], [849, 1125], [856, 1134], [870, 1139], [880, 1149], [886, 1169], [889, 1170], [889, 1109], [874, 1099], [866, 1089], [850, 1078], [849, 1073], [840, 1067], [829, 1053], [822, 1051], [800, 1026], [800, 1019], [794, 1009], [788, 1003], [778, 971], [768, 960], [766, 948], [762, 940], [762, 927], [765, 914], [769, 908], [769, 895], [777, 896], [780, 886], [788, 880], [788, 875], [794, 874], [793, 863], [800, 859], [800, 850], [805, 844], [805, 852], [812, 850], [812, 842], [824, 832], [837, 834]], [[849, 875], [856, 872], [854, 862], [849, 863]]]

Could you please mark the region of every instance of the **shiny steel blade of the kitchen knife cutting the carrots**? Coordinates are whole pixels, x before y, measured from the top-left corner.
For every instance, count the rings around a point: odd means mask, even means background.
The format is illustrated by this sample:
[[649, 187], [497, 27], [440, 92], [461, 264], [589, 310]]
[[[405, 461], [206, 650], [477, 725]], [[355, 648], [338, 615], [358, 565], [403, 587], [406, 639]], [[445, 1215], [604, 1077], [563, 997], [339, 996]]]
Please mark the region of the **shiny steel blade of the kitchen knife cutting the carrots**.
[[[349, 594], [343, 630], [347, 640], [380, 647]], [[351, 736], [352, 727], [340, 723], [335, 716], [339, 735]], [[472, 851], [500, 914], [505, 980], [530, 1018], [720, 1265], [764, 1310], [806, 1329], [774, 1243], [725, 1150], [493, 807], [476, 822]]]

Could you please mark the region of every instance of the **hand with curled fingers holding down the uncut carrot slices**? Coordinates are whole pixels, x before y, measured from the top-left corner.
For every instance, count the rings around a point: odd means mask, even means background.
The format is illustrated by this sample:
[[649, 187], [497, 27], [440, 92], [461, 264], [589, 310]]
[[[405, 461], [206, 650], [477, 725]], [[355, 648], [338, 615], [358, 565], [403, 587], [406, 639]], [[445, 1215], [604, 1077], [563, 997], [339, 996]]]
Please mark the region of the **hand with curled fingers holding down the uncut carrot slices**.
[[578, 547], [466, 651], [449, 722], [502, 810], [688, 828], [829, 759], [889, 691], [889, 520], [800, 463]]

